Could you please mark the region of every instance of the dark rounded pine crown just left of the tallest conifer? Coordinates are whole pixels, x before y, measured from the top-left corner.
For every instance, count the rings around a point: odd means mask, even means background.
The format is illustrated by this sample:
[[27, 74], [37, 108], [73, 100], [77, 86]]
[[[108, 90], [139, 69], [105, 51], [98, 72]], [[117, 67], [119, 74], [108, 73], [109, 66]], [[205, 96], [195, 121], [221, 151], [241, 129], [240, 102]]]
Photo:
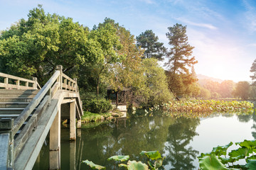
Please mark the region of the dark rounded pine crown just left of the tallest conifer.
[[144, 58], [155, 58], [158, 60], [164, 60], [166, 53], [166, 47], [164, 43], [158, 42], [159, 38], [153, 33], [153, 30], [146, 30], [136, 37], [137, 47], [142, 47], [145, 50]]

